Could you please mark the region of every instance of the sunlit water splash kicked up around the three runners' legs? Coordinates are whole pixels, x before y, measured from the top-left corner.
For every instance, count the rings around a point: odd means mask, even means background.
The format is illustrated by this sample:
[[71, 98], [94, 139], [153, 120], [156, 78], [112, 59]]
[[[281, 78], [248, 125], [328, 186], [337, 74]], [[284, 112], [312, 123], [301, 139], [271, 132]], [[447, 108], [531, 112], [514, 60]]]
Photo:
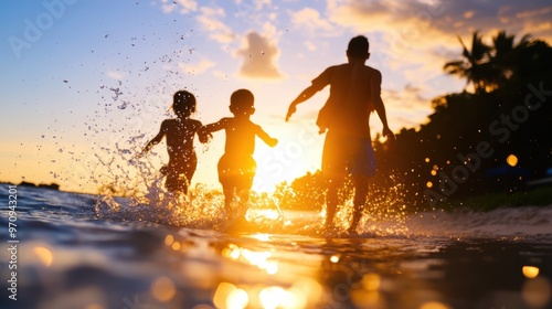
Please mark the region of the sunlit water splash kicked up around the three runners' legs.
[[[130, 136], [124, 146], [117, 142], [114, 149], [103, 149], [105, 153], [98, 160], [108, 170], [110, 180], [100, 192], [103, 198], [96, 205], [97, 215], [116, 221], [145, 221], [179, 227], [219, 231], [232, 227], [220, 190], [201, 184], [191, 188], [188, 195], [164, 190], [163, 175], [158, 168], [163, 160], [156, 152], [148, 158], [137, 156], [144, 138], [144, 134]], [[347, 194], [349, 196], [335, 219], [340, 231], [347, 230], [352, 219], [352, 192]], [[250, 231], [326, 236], [323, 209], [297, 211], [282, 199], [275, 193], [252, 192], [246, 214]], [[288, 209], [283, 210], [283, 204]], [[405, 235], [408, 233], [406, 216], [401, 185], [385, 192], [372, 192], [358, 232], [372, 236]]]

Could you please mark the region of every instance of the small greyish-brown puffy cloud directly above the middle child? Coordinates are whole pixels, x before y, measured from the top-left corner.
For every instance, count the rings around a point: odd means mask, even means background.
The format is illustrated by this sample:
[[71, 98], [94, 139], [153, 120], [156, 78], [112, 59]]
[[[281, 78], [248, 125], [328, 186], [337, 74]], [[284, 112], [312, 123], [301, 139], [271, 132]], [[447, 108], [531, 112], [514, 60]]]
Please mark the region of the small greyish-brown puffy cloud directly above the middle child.
[[268, 38], [250, 32], [242, 49], [236, 55], [243, 57], [244, 62], [240, 75], [252, 78], [280, 78], [282, 74], [275, 62], [279, 56], [279, 50]]

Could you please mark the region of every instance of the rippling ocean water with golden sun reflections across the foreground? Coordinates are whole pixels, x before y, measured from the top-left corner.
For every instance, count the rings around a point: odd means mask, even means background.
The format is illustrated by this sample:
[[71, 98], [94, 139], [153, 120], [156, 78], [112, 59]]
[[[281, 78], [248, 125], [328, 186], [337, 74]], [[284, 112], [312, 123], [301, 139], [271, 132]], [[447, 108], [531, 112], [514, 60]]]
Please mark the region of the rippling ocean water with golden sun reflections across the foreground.
[[0, 308], [552, 308], [552, 205], [372, 212], [348, 238], [258, 201], [235, 228], [210, 192], [11, 193]]

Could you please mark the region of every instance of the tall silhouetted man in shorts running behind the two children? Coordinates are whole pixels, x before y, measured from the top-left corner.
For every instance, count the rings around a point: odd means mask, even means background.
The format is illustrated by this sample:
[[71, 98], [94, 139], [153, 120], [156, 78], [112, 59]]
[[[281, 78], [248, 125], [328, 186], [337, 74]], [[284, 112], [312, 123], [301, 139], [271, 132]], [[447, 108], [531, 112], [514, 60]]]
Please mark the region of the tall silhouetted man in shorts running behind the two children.
[[318, 114], [320, 134], [326, 132], [322, 151], [322, 174], [328, 180], [326, 195], [326, 230], [333, 226], [338, 204], [338, 190], [347, 174], [354, 185], [354, 211], [349, 233], [355, 233], [368, 198], [369, 179], [375, 172], [375, 159], [370, 136], [370, 114], [378, 113], [383, 124], [383, 136], [394, 140], [388, 126], [385, 107], [381, 98], [381, 73], [367, 66], [370, 57], [369, 42], [359, 35], [349, 42], [348, 63], [326, 68], [312, 84], [291, 102], [286, 121], [297, 110], [297, 105], [330, 85], [330, 95]]

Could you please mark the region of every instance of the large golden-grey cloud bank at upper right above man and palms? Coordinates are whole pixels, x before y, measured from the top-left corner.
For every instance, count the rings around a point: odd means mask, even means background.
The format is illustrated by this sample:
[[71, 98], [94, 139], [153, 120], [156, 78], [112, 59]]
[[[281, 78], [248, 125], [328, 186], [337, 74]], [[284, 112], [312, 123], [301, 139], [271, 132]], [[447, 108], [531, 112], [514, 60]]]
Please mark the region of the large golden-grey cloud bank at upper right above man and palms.
[[469, 45], [474, 31], [490, 41], [506, 30], [517, 39], [529, 33], [552, 42], [549, 0], [328, 0], [325, 15], [336, 26], [371, 40], [374, 66], [416, 81], [433, 95], [445, 86], [435, 85], [435, 78], [444, 75], [443, 65], [461, 57], [458, 36]]

